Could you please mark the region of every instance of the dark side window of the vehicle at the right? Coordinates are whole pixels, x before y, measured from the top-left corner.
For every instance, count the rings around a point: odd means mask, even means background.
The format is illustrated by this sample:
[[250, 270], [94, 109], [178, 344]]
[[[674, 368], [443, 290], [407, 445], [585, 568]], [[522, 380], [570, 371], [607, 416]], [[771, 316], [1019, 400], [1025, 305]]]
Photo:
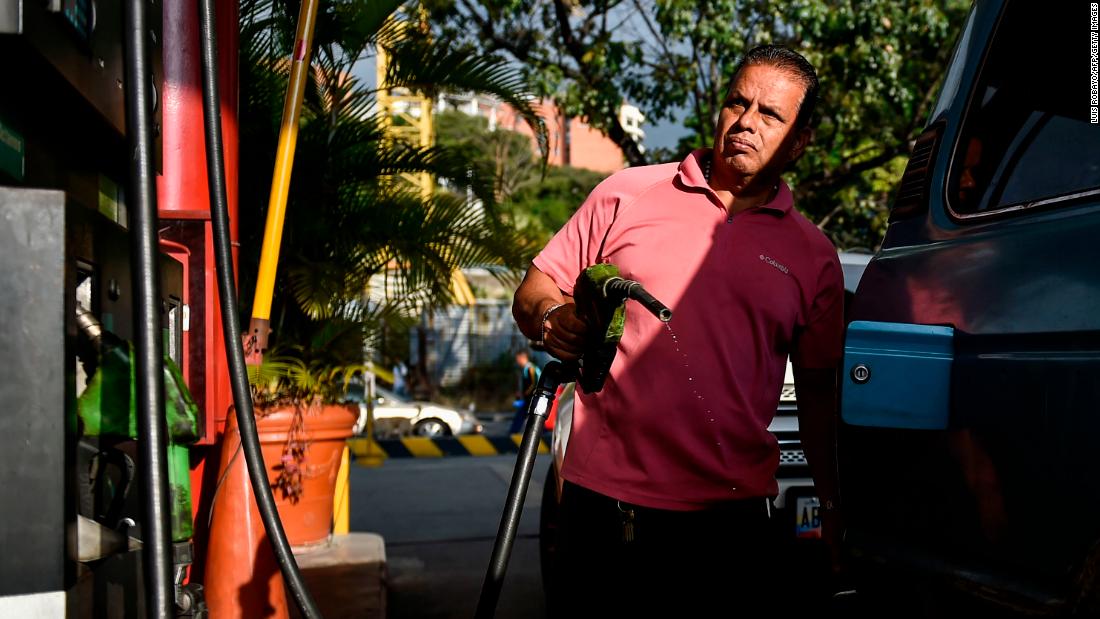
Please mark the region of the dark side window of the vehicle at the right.
[[1072, 2], [1011, 2], [998, 24], [953, 157], [959, 217], [1100, 195], [1090, 122], [1088, 14]]

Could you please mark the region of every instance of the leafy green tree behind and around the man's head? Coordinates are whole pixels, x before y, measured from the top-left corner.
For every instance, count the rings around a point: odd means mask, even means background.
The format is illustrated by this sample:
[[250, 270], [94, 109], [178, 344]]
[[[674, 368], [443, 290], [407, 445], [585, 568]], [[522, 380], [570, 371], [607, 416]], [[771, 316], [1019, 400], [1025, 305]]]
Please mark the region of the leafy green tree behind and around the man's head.
[[686, 113], [682, 156], [710, 145], [737, 59], [791, 46], [818, 70], [817, 135], [789, 174], [796, 201], [845, 246], [872, 246], [927, 120], [966, 0], [433, 0], [440, 32], [519, 62], [540, 93], [648, 163], [624, 99], [652, 121]]

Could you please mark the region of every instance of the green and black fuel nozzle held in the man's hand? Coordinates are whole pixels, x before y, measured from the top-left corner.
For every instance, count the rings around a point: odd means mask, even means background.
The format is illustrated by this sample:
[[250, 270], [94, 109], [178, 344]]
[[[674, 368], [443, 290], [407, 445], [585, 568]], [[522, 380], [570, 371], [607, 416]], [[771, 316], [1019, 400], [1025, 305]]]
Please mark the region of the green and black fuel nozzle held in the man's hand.
[[613, 264], [596, 264], [581, 272], [573, 286], [576, 313], [590, 327], [592, 339], [576, 368], [576, 383], [586, 394], [604, 387], [618, 342], [626, 325], [626, 300], [642, 305], [661, 322], [672, 318], [672, 310], [646, 291], [641, 284], [625, 279]]

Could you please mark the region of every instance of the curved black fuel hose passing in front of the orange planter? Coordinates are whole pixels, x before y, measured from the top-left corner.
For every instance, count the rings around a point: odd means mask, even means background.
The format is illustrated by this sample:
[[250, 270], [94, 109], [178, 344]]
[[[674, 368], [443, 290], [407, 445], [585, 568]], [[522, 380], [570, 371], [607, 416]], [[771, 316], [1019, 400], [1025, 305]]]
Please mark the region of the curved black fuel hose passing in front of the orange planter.
[[[286, 579], [294, 603], [306, 619], [321, 619], [298, 563], [290, 551], [290, 543], [283, 530], [275, 497], [267, 485], [267, 469], [260, 451], [256, 420], [252, 408], [252, 391], [249, 389], [249, 374], [244, 365], [244, 349], [241, 344], [241, 319], [237, 303], [237, 284], [233, 280], [232, 243], [229, 236], [229, 202], [226, 199], [224, 154], [221, 140], [221, 97], [218, 92], [218, 45], [217, 14], [215, 0], [199, 0], [199, 32], [202, 53], [202, 117], [206, 129], [207, 185], [210, 188], [210, 217], [213, 228], [215, 262], [218, 270], [218, 294], [221, 297], [221, 324], [226, 338], [226, 355], [229, 362], [233, 405], [237, 408], [237, 427], [241, 432], [244, 461], [252, 482], [252, 494], [256, 497], [260, 518], [267, 530], [275, 560], [278, 561], [283, 578]], [[163, 416], [162, 416], [163, 419]]]

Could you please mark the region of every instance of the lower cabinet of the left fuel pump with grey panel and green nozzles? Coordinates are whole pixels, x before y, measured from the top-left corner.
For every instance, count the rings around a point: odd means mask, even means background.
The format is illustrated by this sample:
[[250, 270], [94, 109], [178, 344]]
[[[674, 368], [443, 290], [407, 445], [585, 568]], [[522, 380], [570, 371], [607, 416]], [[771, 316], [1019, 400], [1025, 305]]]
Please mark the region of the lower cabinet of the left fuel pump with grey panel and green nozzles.
[[[0, 253], [0, 285], [11, 292], [4, 320], [13, 327], [0, 335], [9, 361], [0, 453], [11, 472], [0, 499], [0, 543], [9, 553], [0, 562], [0, 616], [138, 616], [146, 468], [124, 341], [134, 329], [129, 235], [57, 190], [2, 188], [0, 217], [21, 231]], [[156, 264], [157, 333], [178, 355], [182, 269], [164, 255]], [[178, 463], [169, 475], [177, 526], [168, 561], [183, 584], [191, 555], [187, 444], [199, 425], [185, 390], [172, 399], [179, 414], [166, 427], [175, 444], [162, 456]], [[191, 589], [169, 589], [173, 603], [201, 608]]]

